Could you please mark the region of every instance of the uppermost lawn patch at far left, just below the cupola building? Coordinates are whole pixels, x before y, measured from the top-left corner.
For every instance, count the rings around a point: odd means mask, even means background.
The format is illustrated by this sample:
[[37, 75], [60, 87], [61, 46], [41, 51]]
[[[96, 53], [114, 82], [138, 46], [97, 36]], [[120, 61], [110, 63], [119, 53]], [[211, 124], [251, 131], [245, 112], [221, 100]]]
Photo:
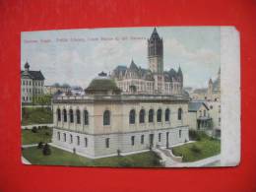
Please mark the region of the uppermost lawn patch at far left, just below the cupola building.
[[52, 123], [52, 111], [45, 107], [23, 107], [22, 125]]

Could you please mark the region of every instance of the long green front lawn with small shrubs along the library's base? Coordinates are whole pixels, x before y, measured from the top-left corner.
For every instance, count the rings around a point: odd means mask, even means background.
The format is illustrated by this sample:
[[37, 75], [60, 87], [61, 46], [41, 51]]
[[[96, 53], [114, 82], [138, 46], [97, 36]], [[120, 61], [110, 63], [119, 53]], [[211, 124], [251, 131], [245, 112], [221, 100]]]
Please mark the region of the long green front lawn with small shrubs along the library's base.
[[43, 156], [36, 147], [23, 150], [23, 156], [32, 164], [73, 165], [73, 166], [117, 166], [117, 167], [160, 167], [160, 158], [154, 152], [125, 157], [111, 157], [97, 160], [87, 159], [58, 148], [50, 147], [51, 155]]

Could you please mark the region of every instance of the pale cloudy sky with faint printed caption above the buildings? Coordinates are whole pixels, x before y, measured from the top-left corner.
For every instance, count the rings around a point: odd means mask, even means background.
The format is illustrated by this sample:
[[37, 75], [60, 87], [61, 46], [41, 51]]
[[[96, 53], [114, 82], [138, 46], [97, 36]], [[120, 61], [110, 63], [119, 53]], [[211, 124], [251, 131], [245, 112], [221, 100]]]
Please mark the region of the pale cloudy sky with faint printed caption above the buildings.
[[[101, 71], [148, 67], [147, 39], [154, 27], [22, 32], [21, 68], [28, 61], [45, 85], [86, 88]], [[158, 27], [163, 39], [163, 69], [183, 72], [184, 87], [204, 88], [220, 68], [220, 27]]]

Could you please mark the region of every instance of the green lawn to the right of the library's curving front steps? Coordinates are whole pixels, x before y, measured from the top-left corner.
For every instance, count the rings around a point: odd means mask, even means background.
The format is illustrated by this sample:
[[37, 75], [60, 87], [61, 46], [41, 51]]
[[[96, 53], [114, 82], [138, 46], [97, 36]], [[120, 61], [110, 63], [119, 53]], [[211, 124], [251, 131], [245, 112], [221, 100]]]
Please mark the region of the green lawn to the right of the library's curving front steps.
[[200, 141], [172, 148], [175, 156], [183, 157], [182, 161], [203, 160], [221, 153], [221, 141], [202, 134]]

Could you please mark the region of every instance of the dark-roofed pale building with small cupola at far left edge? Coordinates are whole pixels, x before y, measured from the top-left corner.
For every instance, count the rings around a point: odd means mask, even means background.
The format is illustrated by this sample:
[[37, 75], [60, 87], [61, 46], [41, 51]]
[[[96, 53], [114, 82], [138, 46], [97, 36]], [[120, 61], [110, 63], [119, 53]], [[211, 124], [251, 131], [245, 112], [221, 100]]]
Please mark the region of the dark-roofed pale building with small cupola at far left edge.
[[24, 65], [25, 70], [21, 71], [22, 103], [32, 103], [37, 96], [43, 95], [44, 77], [41, 71], [31, 71], [28, 62]]

